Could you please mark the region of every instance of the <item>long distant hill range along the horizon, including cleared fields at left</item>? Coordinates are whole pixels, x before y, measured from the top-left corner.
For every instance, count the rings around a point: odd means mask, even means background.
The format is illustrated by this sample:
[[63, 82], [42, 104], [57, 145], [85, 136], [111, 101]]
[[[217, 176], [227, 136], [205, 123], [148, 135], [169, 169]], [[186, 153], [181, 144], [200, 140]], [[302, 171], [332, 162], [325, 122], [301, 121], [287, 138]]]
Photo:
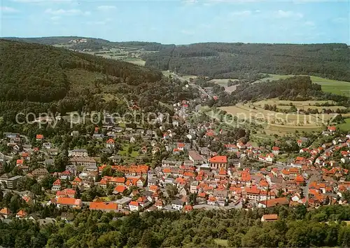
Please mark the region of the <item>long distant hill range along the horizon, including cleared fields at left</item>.
[[[125, 53], [137, 53], [145, 66], [178, 74], [211, 78], [248, 78], [256, 74], [293, 74], [350, 81], [350, 49], [342, 43], [266, 44], [194, 43], [175, 46], [155, 42], [113, 42], [85, 38], [85, 43], [69, 43], [78, 36], [6, 39], [62, 46], [71, 50], [90, 50], [114, 60]], [[116, 51], [116, 49], [118, 51]], [[135, 57], [135, 55], [132, 55]]]

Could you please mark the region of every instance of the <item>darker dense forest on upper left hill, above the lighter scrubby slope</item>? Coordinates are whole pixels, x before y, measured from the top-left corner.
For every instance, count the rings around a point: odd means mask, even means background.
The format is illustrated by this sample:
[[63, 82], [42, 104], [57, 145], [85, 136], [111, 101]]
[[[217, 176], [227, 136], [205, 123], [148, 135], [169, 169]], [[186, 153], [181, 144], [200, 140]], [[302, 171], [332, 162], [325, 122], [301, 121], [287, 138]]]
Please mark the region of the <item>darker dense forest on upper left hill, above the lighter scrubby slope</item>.
[[129, 85], [162, 79], [160, 71], [52, 46], [0, 40], [0, 47], [1, 100], [51, 102], [62, 99], [71, 88], [66, 72], [76, 69], [113, 76]]

